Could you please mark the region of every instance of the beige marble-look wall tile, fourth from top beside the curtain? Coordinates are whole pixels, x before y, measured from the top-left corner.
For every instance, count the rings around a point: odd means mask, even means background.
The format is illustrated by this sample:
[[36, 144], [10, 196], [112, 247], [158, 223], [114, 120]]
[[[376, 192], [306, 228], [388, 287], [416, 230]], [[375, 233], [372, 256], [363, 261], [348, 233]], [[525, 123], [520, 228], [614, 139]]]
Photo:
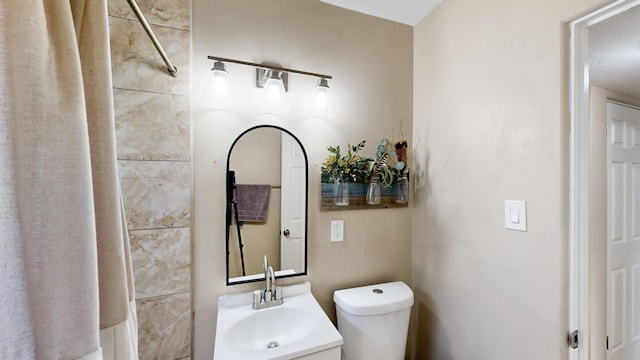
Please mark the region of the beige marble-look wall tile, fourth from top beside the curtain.
[[129, 230], [189, 226], [189, 162], [119, 160], [118, 170]]

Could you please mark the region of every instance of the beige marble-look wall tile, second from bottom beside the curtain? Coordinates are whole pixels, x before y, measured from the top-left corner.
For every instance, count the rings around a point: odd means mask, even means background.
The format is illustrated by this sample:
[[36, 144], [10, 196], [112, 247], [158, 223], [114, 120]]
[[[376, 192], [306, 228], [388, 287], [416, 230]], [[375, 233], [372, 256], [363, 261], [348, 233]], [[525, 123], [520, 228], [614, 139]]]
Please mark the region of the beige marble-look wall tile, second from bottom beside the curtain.
[[129, 238], [136, 299], [190, 290], [188, 227], [133, 230]]

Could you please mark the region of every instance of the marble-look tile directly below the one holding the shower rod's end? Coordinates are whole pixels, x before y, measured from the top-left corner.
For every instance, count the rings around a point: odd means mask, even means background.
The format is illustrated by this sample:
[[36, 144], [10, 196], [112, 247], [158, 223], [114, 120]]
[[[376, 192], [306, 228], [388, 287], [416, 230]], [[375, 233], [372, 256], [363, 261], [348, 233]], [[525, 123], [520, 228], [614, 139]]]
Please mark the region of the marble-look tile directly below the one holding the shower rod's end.
[[189, 160], [189, 97], [114, 89], [120, 160]]

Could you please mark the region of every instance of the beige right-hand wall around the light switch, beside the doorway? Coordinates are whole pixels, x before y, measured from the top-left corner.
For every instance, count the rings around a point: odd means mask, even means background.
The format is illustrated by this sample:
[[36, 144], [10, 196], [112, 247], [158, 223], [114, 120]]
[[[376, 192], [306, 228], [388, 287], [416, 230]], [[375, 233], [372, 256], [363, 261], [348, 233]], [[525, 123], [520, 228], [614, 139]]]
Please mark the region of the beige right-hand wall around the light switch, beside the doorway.
[[415, 27], [418, 359], [566, 357], [568, 22], [606, 3], [447, 0]]

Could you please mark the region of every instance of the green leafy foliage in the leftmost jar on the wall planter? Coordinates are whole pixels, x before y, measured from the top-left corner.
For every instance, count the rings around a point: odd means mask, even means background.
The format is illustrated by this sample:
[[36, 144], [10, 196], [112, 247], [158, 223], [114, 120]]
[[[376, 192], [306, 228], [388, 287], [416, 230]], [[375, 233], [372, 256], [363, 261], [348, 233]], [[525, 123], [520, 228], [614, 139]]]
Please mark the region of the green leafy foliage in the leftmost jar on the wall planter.
[[322, 163], [322, 172], [329, 175], [330, 181], [367, 182], [370, 176], [369, 164], [373, 159], [358, 155], [366, 142], [366, 140], [362, 140], [356, 145], [347, 144], [345, 155], [342, 155], [339, 145], [329, 146], [327, 150], [331, 154]]

